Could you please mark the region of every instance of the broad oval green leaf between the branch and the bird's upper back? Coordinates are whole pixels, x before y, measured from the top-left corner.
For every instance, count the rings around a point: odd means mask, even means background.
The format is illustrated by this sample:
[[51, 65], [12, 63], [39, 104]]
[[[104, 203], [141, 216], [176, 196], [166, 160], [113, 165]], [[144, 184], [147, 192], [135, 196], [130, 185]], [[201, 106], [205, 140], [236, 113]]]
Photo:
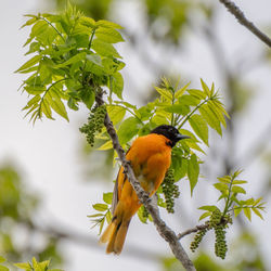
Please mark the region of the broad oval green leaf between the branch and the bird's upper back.
[[118, 129], [120, 144], [126, 144], [131, 140], [140, 129], [140, 121], [134, 117], [127, 118]]

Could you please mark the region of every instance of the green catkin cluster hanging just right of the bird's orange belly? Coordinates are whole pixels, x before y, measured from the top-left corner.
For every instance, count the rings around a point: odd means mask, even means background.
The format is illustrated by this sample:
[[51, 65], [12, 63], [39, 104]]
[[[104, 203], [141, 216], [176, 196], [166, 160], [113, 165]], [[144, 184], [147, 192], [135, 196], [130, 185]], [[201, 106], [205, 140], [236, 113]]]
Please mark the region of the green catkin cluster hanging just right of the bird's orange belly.
[[175, 184], [175, 171], [168, 169], [162, 183], [162, 190], [166, 199], [166, 209], [168, 212], [175, 212], [175, 198], [180, 196], [179, 188]]

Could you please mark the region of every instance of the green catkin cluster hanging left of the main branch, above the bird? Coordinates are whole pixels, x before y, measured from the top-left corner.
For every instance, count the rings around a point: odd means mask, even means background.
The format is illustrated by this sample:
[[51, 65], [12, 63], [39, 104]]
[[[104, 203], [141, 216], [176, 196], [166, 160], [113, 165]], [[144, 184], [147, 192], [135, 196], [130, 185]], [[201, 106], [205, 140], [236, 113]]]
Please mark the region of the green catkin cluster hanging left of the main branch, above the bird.
[[95, 132], [102, 131], [102, 128], [104, 125], [105, 114], [106, 114], [106, 106], [105, 105], [101, 105], [101, 106], [94, 105], [90, 112], [89, 117], [88, 117], [88, 122], [85, 124], [79, 129], [81, 133], [86, 134], [87, 142], [91, 146], [94, 145]]

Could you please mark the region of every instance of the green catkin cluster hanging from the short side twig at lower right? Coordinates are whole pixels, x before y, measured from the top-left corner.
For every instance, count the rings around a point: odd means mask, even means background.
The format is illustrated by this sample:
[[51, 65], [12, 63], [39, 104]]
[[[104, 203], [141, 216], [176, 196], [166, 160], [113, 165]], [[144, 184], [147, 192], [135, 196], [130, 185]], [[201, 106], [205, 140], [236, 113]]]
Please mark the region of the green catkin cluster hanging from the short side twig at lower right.
[[222, 217], [221, 211], [216, 208], [210, 216], [210, 220], [206, 222], [206, 228], [197, 231], [194, 241], [190, 245], [190, 249], [194, 253], [199, 243], [203, 241], [206, 232], [212, 229], [216, 235], [215, 254], [217, 257], [224, 259], [228, 251], [225, 242], [225, 229], [228, 228], [229, 223], [232, 223], [232, 218], [230, 217], [230, 215], [225, 215], [224, 217]]

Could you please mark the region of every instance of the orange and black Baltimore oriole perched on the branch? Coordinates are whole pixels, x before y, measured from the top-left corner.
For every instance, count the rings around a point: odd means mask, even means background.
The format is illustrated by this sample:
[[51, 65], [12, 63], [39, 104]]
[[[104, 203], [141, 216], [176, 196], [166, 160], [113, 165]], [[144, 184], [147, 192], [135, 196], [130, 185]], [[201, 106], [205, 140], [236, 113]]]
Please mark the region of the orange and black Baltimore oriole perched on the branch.
[[[175, 127], [163, 125], [132, 143], [126, 158], [130, 160], [136, 178], [150, 196], [157, 191], [165, 178], [171, 163], [171, 149], [179, 140], [186, 138], [189, 137], [180, 134]], [[108, 243], [107, 254], [121, 253], [130, 220], [140, 206], [141, 203], [120, 167], [113, 193], [113, 218], [100, 238], [101, 243]]]

